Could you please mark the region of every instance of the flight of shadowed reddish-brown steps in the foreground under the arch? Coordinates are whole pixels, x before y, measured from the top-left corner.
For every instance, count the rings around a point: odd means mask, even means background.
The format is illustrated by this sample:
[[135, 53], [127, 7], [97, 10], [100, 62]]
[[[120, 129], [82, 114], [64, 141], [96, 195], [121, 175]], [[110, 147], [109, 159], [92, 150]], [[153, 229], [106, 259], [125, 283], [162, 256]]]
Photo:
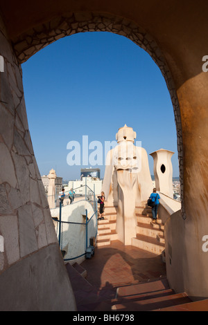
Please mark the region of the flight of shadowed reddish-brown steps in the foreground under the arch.
[[[89, 261], [90, 263], [90, 261]], [[78, 311], [207, 311], [208, 299], [191, 301], [187, 293], [175, 293], [166, 277], [119, 288], [96, 288], [87, 271], [66, 264]], [[112, 295], [114, 298], [112, 299]]]

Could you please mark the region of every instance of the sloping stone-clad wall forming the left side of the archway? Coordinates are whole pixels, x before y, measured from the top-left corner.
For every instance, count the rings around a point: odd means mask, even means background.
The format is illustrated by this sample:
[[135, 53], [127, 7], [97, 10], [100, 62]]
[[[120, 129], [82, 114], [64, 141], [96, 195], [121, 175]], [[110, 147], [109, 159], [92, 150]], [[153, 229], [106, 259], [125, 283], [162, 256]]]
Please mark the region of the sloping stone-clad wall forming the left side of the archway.
[[0, 44], [0, 310], [76, 310], [28, 130], [21, 66], [2, 21]]

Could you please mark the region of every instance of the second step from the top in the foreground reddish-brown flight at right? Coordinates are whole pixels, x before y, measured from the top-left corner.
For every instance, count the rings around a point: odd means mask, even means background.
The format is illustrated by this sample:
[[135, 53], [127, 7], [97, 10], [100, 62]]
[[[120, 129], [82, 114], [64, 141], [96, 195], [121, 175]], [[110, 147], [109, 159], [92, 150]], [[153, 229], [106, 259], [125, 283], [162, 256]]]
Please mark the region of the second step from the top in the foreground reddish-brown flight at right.
[[124, 304], [114, 304], [112, 310], [121, 311], [150, 311], [158, 308], [167, 308], [170, 306], [176, 306], [180, 304], [186, 304], [191, 302], [191, 299], [186, 293], [177, 293], [174, 295], [166, 295], [162, 297], [156, 297], [152, 299], [144, 299], [131, 302], [125, 302]]

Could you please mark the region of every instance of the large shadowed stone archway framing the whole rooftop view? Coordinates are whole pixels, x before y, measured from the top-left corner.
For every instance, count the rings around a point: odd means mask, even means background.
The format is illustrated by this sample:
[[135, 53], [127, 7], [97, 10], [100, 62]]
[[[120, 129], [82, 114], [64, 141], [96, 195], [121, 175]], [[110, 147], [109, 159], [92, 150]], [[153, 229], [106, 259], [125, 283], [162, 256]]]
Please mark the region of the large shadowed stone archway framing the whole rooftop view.
[[[208, 297], [208, 255], [202, 250], [208, 229], [208, 75], [202, 72], [202, 57], [208, 52], [207, 8], [204, 0], [1, 1], [0, 55], [5, 64], [0, 79], [0, 236], [5, 239], [4, 252], [0, 252], [1, 310], [76, 309], [42, 195], [28, 131], [21, 63], [67, 33], [84, 32], [86, 21], [86, 31], [94, 31], [94, 24], [99, 24], [96, 30], [124, 32], [149, 50], [153, 59], [156, 55], [175, 111], [184, 219], [184, 207], [187, 214], [185, 221], [176, 213], [166, 222], [166, 256], [172, 257], [168, 281], [177, 293], [185, 290], [193, 299]], [[142, 40], [140, 33], [145, 36]], [[49, 299], [45, 293], [54, 279], [57, 286]]]

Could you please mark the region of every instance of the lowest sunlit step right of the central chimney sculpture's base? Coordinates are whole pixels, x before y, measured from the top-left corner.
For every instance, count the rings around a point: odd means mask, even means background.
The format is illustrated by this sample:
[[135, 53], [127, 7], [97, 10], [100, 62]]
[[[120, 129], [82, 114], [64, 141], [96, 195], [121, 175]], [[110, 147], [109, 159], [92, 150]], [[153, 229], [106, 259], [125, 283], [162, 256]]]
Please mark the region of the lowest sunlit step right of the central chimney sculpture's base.
[[132, 238], [132, 246], [147, 250], [153, 254], [160, 255], [164, 250], [164, 243], [159, 243], [156, 238], [137, 234], [136, 238]]

